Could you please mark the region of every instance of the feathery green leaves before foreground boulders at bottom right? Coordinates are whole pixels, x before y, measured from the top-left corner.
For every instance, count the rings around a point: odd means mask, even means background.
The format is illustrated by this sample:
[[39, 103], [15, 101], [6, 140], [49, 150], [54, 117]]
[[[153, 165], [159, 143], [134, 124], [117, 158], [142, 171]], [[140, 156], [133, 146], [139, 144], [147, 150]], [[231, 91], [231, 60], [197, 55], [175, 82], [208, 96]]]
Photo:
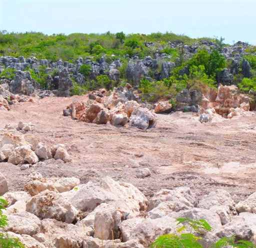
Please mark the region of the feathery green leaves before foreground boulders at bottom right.
[[[173, 234], [166, 234], [158, 237], [151, 245], [151, 248], [203, 248], [201, 241], [203, 234], [210, 232], [212, 228], [205, 220], [191, 220], [188, 218], [178, 218], [177, 231]], [[187, 232], [189, 230], [189, 232]], [[255, 248], [251, 242], [238, 240], [234, 237], [221, 238], [212, 248]]]

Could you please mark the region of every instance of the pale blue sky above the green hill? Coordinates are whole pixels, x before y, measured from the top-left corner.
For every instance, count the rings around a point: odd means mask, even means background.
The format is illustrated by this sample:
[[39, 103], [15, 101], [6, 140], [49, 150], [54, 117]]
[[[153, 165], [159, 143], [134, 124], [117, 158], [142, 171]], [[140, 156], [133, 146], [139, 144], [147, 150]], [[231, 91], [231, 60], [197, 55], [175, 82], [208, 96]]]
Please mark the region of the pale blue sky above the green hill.
[[0, 0], [0, 30], [151, 33], [256, 44], [256, 0]]

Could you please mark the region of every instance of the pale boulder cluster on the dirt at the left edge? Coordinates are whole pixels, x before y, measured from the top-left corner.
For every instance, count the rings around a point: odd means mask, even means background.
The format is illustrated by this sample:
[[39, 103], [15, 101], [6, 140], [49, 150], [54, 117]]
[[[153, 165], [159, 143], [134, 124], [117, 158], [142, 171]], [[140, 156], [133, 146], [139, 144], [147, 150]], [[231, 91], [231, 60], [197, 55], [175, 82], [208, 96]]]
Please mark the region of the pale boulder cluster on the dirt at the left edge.
[[[21, 125], [22, 124], [22, 125]], [[31, 125], [19, 123], [18, 129], [28, 130]], [[14, 165], [33, 165], [39, 160], [61, 159], [70, 162], [70, 155], [63, 144], [48, 147], [32, 137], [25, 137], [20, 133], [4, 132], [0, 140], [0, 162], [8, 162]]]

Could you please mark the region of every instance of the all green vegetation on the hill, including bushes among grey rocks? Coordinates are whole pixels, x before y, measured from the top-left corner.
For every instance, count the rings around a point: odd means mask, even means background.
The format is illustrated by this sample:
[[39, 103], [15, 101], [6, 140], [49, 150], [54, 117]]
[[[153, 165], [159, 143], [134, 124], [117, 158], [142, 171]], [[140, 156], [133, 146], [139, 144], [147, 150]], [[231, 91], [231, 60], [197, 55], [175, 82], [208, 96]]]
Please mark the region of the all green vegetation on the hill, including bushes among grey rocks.
[[[191, 45], [200, 40], [213, 41], [216, 49], [208, 52], [206, 49], [198, 50], [190, 59], [186, 59], [185, 48], [171, 48], [169, 42], [177, 41], [184, 45]], [[158, 99], [171, 100], [174, 104], [176, 94], [184, 88], [200, 87], [201, 85], [216, 87], [216, 77], [224, 68], [230, 68], [231, 62], [226, 61], [220, 53], [224, 47], [224, 39], [222, 37], [210, 39], [201, 38], [193, 39], [186, 35], [177, 35], [171, 32], [151, 33], [151, 34], [124, 34], [123, 32], [110, 33], [109, 31], [102, 34], [90, 33], [72, 33], [69, 35], [52, 34], [45, 35], [39, 32], [25, 33], [8, 33], [0, 32], [0, 54], [14, 57], [35, 56], [37, 59], [49, 59], [57, 61], [73, 62], [79, 57], [90, 57], [92, 61], [99, 61], [104, 56], [107, 63], [120, 59], [121, 67], [120, 82], [114, 83], [107, 75], [100, 75], [91, 80], [91, 65], [83, 64], [80, 66], [79, 72], [85, 78], [85, 86], [81, 86], [74, 82], [72, 93], [82, 94], [88, 90], [94, 90], [99, 87], [111, 89], [117, 84], [126, 82], [126, 69], [130, 57], [136, 55], [140, 59], [145, 56], [154, 57], [155, 53], [161, 53], [164, 58], [157, 61], [154, 68], [148, 68], [148, 76], [152, 80], [142, 79], [139, 83], [139, 90], [142, 97], [146, 101], [156, 101]], [[148, 46], [148, 42], [153, 45]], [[250, 46], [246, 49], [252, 53], [256, 51], [255, 47]], [[241, 91], [248, 92], [250, 89], [255, 90], [256, 83], [256, 56], [247, 54], [244, 56], [251, 66], [252, 78], [243, 78], [241, 71], [234, 75], [234, 83], [238, 85]], [[161, 78], [161, 65], [163, 61], [172, 61], [175, 63], [171, 70], [169, 78], [155, 80]], [[32, 78], [38, 82], [43, 89], [47, 89], [47, 73], [46, 68], [39, 67], [39, 71], [28, 69]], [[57, 71], [50, 72], [51, 76], [57, 75]], [[7, 68], [0, 73], [0, 78], [13, 79], [15, 70]]]

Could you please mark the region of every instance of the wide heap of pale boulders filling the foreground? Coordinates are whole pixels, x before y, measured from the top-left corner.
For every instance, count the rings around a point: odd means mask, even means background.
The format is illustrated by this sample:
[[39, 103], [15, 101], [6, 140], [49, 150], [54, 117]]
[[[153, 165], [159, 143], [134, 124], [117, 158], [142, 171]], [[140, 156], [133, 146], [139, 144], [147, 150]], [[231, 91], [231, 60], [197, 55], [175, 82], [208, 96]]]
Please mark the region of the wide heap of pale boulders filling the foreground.
[[222, 237], [256, 241], [256, 193], [235, 204], [225, 190], [198, 200], [191, 189], [179, 187], [147, 199], [109, 177], [80, 184], [33, 172], [19, 192], [8, 192], [0, 174], [0, 195], [8, 201], [5, 231], [27, 248], [147, 248], [159, 235], [174, 233], [180, 217], [209, 223], [212, 232], [201, 233], [205, 248]]

